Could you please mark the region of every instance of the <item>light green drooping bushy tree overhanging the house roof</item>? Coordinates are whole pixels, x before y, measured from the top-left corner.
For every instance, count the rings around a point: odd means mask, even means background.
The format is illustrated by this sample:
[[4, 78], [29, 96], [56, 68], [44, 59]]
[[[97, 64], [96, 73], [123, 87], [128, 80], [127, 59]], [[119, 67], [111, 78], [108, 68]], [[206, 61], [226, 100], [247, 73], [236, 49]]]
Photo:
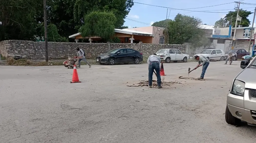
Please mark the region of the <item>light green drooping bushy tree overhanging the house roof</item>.
[[84, 16], [84, 25], [79, 32], [83, 37], [99, 36], [111, 39], [115, 34], [117, 19], [113, 12], [93, 11]]

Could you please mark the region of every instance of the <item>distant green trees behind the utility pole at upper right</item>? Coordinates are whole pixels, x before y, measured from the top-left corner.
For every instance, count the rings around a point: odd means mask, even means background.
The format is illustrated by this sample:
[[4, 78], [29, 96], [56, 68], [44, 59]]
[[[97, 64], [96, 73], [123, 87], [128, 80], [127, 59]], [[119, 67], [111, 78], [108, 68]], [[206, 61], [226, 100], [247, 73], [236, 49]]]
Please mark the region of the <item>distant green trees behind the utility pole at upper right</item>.
[[[252, 14], [253, 12], [247, 11], [247, 10], [239, 10], [238, 15], [242, 17], [241, 21], [238, 21], [237, 25], [242, 25], [243, 27], [248, 27], [250, 25], [250, 20], [248, 19], [248, 16]], [[236, 25], [236, 17], [237, 17], [237, 10], [236, 11], [229, 11], [228, 14], [224, 17], [221, 18], [220, 20], [215, 22], [215, 28], [219, 26], [219, 28], [222, 27], [228, 27], [231, 23], [232, 27], [235, 27]], [[231, 21], [232, 19], [232, 21]]]

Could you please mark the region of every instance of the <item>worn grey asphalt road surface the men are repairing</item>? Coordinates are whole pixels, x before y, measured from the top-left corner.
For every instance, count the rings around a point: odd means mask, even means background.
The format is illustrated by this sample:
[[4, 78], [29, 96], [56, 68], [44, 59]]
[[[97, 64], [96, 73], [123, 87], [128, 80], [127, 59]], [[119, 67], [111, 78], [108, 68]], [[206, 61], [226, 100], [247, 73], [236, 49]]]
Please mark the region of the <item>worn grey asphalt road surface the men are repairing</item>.
[[0, 66], [0, 142], [255, 142], [256, 127], [225, 122], [242, 69], [223, 63], [211, 62], [205, 81], [178, 78], [196, 62], [164, 64], [165, 81], [180, 83], [163, 89], [126, 86], [147, 80], [147, 64], [83, 65], [81, 83], [64, 66]]

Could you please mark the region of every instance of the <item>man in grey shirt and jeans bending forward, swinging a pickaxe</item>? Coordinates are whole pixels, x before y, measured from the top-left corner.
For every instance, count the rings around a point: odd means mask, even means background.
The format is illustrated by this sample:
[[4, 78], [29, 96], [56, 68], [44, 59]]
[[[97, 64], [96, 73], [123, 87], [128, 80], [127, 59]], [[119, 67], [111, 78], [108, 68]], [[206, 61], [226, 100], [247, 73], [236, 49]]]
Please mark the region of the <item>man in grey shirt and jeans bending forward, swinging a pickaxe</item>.
[[202, 68], [202, 74], [199, 78], [197, 79], [204, 79], [204, 76], [205, 76], [205, 72], [206, 72], [206, 69], [210, 63], [209, 59], [207, 59], [204, 55], [195, 55], [195, 59], [198, 61], [198, 64], [197, 66], [194, 68], [194, 69], [197, 69], [198, 67], [200, 66], [203, 66]]

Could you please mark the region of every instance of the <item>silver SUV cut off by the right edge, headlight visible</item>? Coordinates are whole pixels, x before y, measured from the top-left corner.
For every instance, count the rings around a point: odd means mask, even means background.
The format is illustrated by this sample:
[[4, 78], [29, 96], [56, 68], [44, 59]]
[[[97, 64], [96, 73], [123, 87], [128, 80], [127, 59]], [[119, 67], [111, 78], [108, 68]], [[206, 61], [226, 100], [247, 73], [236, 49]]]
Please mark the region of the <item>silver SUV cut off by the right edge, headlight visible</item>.
[[241, 61], [243, 69], [233, 80], [227, 94], [225, 119], [228, 124], [239, 125], [246, 121], [256, 126], [256, 58]]

